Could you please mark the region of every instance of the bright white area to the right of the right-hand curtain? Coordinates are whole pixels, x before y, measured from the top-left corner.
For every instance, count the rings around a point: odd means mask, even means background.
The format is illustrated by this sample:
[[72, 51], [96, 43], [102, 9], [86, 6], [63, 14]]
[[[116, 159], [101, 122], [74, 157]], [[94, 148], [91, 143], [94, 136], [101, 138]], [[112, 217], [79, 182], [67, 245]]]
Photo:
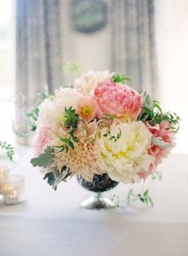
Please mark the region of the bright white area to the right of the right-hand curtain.
[[188, 153], [188, 1], [155, 2], [159, 99], [182, 119], [176, 150]]

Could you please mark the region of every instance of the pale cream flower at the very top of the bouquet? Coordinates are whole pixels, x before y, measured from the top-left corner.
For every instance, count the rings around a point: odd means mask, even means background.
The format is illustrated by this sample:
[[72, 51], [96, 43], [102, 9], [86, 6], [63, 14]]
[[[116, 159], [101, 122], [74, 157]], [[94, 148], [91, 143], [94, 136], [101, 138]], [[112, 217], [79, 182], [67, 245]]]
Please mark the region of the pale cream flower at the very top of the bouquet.
[[98, 85], [98, 83], [103, 82], [104, 80], [109, 78], [111, 78], [111, 74], [108, 70], [96, 72], [89, 70], [80, 78], [76, 78], [73, 86], [82, 94], [92, 95], [92, 92]]

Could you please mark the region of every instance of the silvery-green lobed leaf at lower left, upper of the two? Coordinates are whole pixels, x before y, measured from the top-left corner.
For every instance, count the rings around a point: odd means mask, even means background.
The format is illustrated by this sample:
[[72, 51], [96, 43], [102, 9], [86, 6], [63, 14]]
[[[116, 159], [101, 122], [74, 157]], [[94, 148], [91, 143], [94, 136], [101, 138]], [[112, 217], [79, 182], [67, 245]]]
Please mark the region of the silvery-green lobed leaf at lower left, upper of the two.
[[39, 166], [47, 168], [53, 163], [54, 158], [54, 149], [51, 146], [48, 146], [43, 154], [40, 154], [37, 158], [32, 158], [30, 163], [33, 166]]

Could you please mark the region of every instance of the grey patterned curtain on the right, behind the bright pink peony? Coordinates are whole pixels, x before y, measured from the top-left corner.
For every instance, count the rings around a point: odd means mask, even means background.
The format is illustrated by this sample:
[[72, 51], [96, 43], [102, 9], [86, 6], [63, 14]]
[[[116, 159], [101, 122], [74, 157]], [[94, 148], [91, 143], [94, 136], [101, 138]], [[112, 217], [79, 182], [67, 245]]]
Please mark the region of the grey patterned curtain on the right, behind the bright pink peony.
[[131, 78], [136, 90], [155, 94], [154, 0], [116, 0], [112, 4], [112, 70]]

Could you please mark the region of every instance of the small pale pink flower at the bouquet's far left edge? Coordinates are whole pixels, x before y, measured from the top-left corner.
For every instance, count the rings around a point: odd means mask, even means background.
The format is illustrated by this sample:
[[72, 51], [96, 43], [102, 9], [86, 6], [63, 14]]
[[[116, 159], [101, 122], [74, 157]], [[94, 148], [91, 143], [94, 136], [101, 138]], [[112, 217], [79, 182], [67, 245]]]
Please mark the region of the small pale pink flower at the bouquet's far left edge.
[[45, 149], [45, 146], [47, 146], [47, 144], [49, 144], [50, 141], [52, 141], [50, 128], [41, 127], [41, 130], [39, 130], [39, 133], [34, 145], [35, 155], [38, 156], [39, 154], [41, 154]]

